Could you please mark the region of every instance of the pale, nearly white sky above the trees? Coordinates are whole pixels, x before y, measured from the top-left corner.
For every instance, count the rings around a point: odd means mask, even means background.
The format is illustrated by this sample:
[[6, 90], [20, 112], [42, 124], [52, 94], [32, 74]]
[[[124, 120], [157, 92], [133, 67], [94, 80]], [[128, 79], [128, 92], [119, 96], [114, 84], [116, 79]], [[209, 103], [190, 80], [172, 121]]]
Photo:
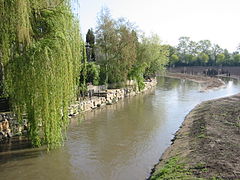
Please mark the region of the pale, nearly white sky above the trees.
[[81, 32], [95, 28], [97, 15], [108, 7], [114, 19], [124, 17], [147, 35], [177, 45], [181, 36], [208, 39], [235, 51], [240, 44], [240, 0], [79, 0]]

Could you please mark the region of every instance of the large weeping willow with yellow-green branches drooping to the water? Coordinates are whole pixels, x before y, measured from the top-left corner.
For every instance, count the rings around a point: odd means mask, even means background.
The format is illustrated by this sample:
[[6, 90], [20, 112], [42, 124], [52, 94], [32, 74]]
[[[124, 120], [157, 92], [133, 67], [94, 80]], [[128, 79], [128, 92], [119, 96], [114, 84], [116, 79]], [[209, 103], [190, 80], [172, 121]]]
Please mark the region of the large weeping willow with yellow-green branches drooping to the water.
[[34, 146], [62, 144], [83, 49], [69, 0], [0, 0], [4, 93]]

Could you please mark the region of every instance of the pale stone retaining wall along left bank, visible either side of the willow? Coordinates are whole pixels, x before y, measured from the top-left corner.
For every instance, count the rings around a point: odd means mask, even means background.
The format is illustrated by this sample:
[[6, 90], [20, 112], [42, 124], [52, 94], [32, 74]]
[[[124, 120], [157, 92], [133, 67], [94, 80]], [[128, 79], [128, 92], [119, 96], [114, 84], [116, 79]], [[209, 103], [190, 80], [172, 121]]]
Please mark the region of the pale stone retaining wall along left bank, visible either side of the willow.
[[[84, 100], [76, 101], [69, 107], [69, 117], [75, 116], [82, 112], [91, 111], [105, 105], [111, 105], [117, 103], [119, 100], [126, 97], [132, 97], [139, 93], [145, 92], [157, 84], [156, 79], [151, 79], [145, 83], [145, 88], [138, 91], [133, 82], [129, 82], [129, 86], [121, 89], [106, 89], [96, 88], [97, 92], [91, 96], [91, 98], [85, 98]], [[27, 120], [23, 120], [23, 125], [20, 125], [17, 121], [16, 116], [11, 113], [0, 114], [0, 141], [6, 138], [10, 138], [16, 135], [22, 135], [27, 132]]]

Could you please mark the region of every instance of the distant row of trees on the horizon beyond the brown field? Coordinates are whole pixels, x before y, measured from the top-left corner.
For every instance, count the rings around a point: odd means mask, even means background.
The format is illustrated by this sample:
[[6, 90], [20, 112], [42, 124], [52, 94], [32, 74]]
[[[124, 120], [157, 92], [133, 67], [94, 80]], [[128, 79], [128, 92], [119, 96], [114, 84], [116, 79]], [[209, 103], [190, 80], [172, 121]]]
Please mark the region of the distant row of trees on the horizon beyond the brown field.
[[176, 47], [169, 48], [169, 66], [239, 66], [238, 48], [230, 53], [209, 40], [192, 41], [189, 37], [180, 37]]

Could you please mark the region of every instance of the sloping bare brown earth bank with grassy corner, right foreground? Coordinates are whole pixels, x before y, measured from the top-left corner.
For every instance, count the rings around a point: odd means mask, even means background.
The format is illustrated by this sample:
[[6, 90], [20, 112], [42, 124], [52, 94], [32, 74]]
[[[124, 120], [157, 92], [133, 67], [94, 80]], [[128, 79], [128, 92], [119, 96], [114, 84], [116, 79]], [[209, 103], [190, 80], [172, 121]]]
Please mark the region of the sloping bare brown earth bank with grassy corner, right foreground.
[[196, 106], [149, 179], [240, 179], [240, 94]]

